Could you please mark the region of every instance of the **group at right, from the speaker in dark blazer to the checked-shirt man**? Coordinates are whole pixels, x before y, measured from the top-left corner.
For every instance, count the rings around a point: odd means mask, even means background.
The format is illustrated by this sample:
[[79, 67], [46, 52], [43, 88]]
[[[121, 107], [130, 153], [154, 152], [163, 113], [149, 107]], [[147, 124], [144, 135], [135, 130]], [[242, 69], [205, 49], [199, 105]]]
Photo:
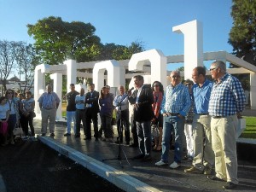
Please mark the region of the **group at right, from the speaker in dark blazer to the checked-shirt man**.
[[[176, 169], [181, 166], [184, 125], [190, 123], [192, 129], [188, 128], [185, 132], [190, 143], [193, 143], [193, 153], [190, 153], [193, 161], [192, 166], [184, 172], [206, 174], [208, 179], [226, 181], [224, 189], [234, 189], [238, 183], [236, 127], [245, 108], [245, 94], [239, 80], [226, 73], [223, 61], [214, 61], [210, 73], [214, 82], [206, 78], [205, 67], [195, 67], [192, 72], [195, 84], [188, 81], [182, 84], [180, 73], [171, 73], [171, 84], [166, 87], [160, 104], [163, 116], [163, 128], [160, 128], [162, 138], [159, 139], [162, 140], [162, 154], [155, 166], [168, 165], [172, 131], [175, 143], [174, 160], [170, 167]], [[156, 96], [147, 84], [143, 84], [142, 76], [136, 76], [134, 84], [137, 90], [130, 93], [128, 98], [134, 107], [140, 148], [140, 154], [134, 159], [148, 161], [151, 160], [152, 151], [150, 125], [159, 117], [150, 108], [159, 106], [157, 101], [161, 100], [161, 96]], [[159, 82], [154, 85], [159, 85]], [[193, 119], [189, 122], [191, 108]], [[159, 126], [161, 127], [161, 123]], [[213, 167], [215, 175], [212, 175]]]

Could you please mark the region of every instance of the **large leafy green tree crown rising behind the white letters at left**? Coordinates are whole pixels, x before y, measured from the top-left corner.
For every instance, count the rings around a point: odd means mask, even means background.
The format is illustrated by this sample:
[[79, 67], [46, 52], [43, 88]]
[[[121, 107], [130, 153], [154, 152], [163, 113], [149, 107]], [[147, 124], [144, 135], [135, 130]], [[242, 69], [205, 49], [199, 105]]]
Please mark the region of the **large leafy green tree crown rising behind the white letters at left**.
[[35, 39], [35, 48], [44, 63], [55, 65], [73, 59], [76, 61], [96, 61], [99, 54], [100, 38], [96, 28], [90, 23], [61, 20], [50, 16], [28, 24], [28, 34]]

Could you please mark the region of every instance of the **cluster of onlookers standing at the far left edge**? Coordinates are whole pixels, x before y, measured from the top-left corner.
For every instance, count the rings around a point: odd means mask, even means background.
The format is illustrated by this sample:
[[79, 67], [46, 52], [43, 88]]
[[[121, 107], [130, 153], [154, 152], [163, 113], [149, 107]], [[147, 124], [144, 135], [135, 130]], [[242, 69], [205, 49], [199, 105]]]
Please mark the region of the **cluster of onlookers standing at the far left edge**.
[[[17, 93], [14, 90], [6, 90], [5, 96], [0, 97], [0, 138], [1, 145], [15, 144], [14, 129], [21, 127], [24, 136], [27, 139], [34, 139], [35, 131], [33, 127], [33, 118], [35, 101], [32, 98], [32, 92], [26, 91], [24, 96], [22, 93]], [[28, 131], [30, 127], [30, 134]]]

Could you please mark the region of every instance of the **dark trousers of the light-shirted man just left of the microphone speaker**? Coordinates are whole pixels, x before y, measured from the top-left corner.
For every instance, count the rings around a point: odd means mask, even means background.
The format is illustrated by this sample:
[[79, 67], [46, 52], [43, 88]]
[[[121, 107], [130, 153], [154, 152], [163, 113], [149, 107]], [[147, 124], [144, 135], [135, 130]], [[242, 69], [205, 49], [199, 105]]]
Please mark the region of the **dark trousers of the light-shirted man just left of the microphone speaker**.
[[117, 113], [118, 141], [123, 142], [123, 131], [125, 130], [125, 142], [130, 143], [129, 109]]

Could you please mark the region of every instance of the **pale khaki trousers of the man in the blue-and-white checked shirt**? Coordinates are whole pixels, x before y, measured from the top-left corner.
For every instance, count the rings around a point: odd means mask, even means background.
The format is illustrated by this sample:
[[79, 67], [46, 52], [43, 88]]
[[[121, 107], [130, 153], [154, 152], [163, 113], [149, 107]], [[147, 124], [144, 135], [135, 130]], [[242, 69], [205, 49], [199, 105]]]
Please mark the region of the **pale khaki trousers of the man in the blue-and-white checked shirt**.
[[236, 114], [220, 119], [212, 118], [211, 122], [216, 177], [226, 179], [227, 182], [235, 184], [238, 183], [236, 155], [237, 122]]

